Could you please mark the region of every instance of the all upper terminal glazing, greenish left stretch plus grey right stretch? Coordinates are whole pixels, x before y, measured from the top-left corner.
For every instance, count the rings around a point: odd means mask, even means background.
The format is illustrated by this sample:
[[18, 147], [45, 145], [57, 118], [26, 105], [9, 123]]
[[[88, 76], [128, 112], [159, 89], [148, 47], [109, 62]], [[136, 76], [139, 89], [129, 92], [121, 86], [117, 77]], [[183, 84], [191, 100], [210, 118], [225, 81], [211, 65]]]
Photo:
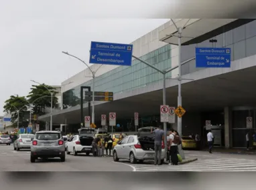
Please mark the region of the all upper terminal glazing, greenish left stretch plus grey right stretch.
[[[182, 46], [181, 61], [186, 61], [194, 57], [195, 47], [230, 47], [231, 59], [235, 61], [244, 57], [256, 54], [256, 21], [237, 27], [226, 33], [212, 37], [217, 43], [210, 43], [209, 39], [202, 43]], [[224, 43], [225, 42], [225, 43]], [[172, 67], [172, 49], [166, 45], [155, 51], [147, 53], [140, 57], [151, 63], [159, 69], [168, 69]], [[194, 60], [182, 65], [182, 75], [193, 73], [204, 68], [196, 68]], [[171, 72], [167, 77], [171, 77]], [[144, 63], [134, 60], [131, 67], [118, 67], [105, 73], [95, 79], [95, 91], [113, 91], [120, 93], [131, 91], [139, 87], [145, 87], [159, 80], [162, 80], [162, 74]], [[92, 86], [92, 80], [82, 84], [83, 86]], [[80, 86], [70, 89], [63, 93], [63, 107], [70, 107], [80, 104]]]

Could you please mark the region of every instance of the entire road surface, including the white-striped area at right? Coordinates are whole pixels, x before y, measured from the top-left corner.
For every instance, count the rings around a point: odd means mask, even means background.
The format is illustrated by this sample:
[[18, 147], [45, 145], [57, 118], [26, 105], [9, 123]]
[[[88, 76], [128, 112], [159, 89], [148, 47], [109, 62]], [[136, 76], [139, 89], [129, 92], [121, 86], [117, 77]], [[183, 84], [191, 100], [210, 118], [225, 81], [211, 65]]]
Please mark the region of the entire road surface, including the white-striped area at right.
[[198, 161], [184, 165], [153, 165], [152, 162], [131, 164], [112, 157], [92, 157], [84, 154], [66, 155], [60, 159], [38, 160], [30, 163], [29, 149], [14, 151], [13, 145], [0, 145], [0, 171], [256, 171], [255, 155], [236, 155], [206, 151], [184, 151], [186, 158], [196, 157]]

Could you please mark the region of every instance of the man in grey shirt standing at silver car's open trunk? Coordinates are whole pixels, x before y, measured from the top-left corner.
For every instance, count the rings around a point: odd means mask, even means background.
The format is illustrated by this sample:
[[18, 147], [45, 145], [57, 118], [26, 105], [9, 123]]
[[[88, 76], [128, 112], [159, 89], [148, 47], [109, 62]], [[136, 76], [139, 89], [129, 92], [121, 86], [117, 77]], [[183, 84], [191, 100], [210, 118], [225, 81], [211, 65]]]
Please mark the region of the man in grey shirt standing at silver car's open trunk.
[[164, 131], [162, 126], [159, 126], [157, 129], [153, 130], [151, 127], [151, 133], [155, 134], [155, 165], [161, 165], [161, 156], [162, 156], [162, 141], [164, 141]]

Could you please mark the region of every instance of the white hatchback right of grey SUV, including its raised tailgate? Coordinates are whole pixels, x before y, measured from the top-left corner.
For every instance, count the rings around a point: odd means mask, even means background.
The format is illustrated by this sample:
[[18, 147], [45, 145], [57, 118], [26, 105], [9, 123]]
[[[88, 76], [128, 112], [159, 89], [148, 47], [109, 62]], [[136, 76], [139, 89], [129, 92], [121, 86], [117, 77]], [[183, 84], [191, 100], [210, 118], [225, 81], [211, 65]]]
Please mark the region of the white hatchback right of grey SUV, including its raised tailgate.
[[78, 129], [79, 135], [74, 135], [66, 144], [66, 153], [69, 155], [71, 152], [74, 156], [78, 153], [92, 153], [92, 141], [94, 139], [94, 129], [84, 127]]

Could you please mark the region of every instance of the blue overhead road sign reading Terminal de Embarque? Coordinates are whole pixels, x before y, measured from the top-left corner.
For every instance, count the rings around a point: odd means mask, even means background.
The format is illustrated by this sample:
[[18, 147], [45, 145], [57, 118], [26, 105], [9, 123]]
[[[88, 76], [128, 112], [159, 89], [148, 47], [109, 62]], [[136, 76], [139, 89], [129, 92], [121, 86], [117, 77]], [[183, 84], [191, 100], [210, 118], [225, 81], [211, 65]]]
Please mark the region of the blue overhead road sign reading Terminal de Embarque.
[[196, 67], [231, 67], [231, 49], [196, 47]]

